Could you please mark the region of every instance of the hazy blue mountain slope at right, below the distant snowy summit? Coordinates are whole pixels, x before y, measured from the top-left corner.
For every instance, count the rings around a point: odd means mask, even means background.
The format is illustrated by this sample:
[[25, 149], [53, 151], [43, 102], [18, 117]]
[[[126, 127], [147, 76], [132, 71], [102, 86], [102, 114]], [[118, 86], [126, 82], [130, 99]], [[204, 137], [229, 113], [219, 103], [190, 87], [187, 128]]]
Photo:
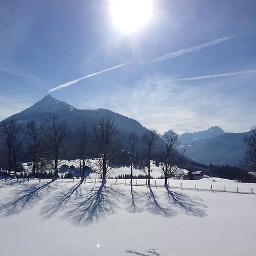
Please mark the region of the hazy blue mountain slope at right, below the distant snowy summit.
[[185, 156], [203, 164], [239, 166], [239, 160], [246, 151], [247, 133], [225, 133], [217, 137], [195, 140], [180, 144], [179, 151], [185, 150]]

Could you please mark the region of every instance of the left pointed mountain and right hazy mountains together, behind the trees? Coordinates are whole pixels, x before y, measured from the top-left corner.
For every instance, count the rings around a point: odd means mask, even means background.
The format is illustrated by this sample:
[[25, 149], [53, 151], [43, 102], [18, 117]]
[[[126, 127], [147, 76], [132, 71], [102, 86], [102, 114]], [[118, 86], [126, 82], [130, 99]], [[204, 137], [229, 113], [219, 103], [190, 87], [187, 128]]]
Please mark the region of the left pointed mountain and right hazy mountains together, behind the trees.
[[[67, 121], [70, 130], [74, 130], [81, 122], [90, 125], [102, 117], [110, 117], [125, 135], [134, 132], [142, 136], [147, 131], [141, 123], [124, 115], [107, 109], [77, 109], [51, 95], [47, 95], [30, 108], [6, 119], [14, 119], [21, 125], [26, 125], [31, 120], [42, 123], [52, 113], [57, 114], [61, 120]], [[179, 135], [178, 149], [179, 151], [185, 149], [185, 156], [199, 163], [238, 166], [239, 159], [243, 158], [246, 151], [244, 139], [249, 135], [250, 132], [225, 133], [220, 127], [213, 126], [205, 131]]]

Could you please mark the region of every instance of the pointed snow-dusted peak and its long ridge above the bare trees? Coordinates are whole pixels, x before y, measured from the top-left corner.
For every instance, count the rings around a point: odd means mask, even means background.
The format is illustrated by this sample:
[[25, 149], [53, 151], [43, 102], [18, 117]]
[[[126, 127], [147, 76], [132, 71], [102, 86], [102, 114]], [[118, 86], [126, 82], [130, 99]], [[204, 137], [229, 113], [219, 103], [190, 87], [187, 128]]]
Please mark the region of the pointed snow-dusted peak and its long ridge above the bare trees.
[[[58, 117], [68, 122], [69, 129], [73, 130], [80, 125], [81, 122], [86, 122], [90, 126], [97, 122], [102, 117], [110, 117], [115, 122], [115, 125], [122, 130], [124, 134], [137, 133], [143, 135], [147, 129], [138, 121], [125, 117], [124, 115], [112, 112], [107, 109], [86, 110], [77, 109], [67, 102], [57, 100], [51, 95], [45, 96], [42, 100], [36, 102], [30, 108], [23, 110], [20, 113], [11, 115], [7, 119], [14, 119], [21, 125], [25, 125], [28, 121], [34, 120], [38, 123], [43, 123], [51, 114], [57, 114]], [[1, 122], [0, 122], [1, 124]]]

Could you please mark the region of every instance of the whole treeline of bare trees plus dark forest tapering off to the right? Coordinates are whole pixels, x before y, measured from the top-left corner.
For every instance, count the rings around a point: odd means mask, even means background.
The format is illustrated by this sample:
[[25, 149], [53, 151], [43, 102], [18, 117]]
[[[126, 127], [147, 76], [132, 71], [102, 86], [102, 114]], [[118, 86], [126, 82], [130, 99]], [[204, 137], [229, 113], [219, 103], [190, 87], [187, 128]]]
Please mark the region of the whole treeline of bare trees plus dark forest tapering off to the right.
[[[78, 122], [79, 123], [79, 122]], [[133, 182], [134, 168], [144, 169], [148, 184], [151, 179], [151, 160], [162, 171], [162, 178], [167, 179], [179, 168], [189, 171], [208, 172], [210, 176], [226, 179], [249, 181], [251, 176], [240, 168], [212, 166], [195, 163], [177, 152], [178, 135], [168, 131], [160, 137], [156, 130], [146, 130], [139, 136], [136, 133], [123, 134], [111, 118], [101, 118], [95, 123], [79, 123], [69, 129], [68, 123], [52, 114], [43, 123], [35, 121], [18, 123], [7, 119], [1, 123], [1, 167], [8, 175], [16, 177], [22, 171], [24, 159], [32, 163], [31, 176], [59, 178], [59, 166], [63, 159], [80, 160], [81, 180], [85, 179], [85, 170], [89, 159], [95, 158], [94, 170], [102, 180], [109, 177], [109, 171], [121, 165], [130, 167], [129, 179]], [[71, 158], [72, 156], [72, 158]], [[49, 174], [51, 170], [52, 174]], [[209, 170], [208, 170], [209, 169]]]

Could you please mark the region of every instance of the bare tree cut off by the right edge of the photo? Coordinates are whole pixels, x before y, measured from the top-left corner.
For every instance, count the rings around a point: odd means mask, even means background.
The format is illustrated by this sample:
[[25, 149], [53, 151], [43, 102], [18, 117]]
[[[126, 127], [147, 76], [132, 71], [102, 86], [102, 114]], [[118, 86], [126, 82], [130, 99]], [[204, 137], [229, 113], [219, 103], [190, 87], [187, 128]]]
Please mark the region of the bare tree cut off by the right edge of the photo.
[[248, 171], [256, 172], [256, 126], [251, 128], [251, 135], [245, 138], [245, 142], [247, 150], [243, 160], [243, 167]]

